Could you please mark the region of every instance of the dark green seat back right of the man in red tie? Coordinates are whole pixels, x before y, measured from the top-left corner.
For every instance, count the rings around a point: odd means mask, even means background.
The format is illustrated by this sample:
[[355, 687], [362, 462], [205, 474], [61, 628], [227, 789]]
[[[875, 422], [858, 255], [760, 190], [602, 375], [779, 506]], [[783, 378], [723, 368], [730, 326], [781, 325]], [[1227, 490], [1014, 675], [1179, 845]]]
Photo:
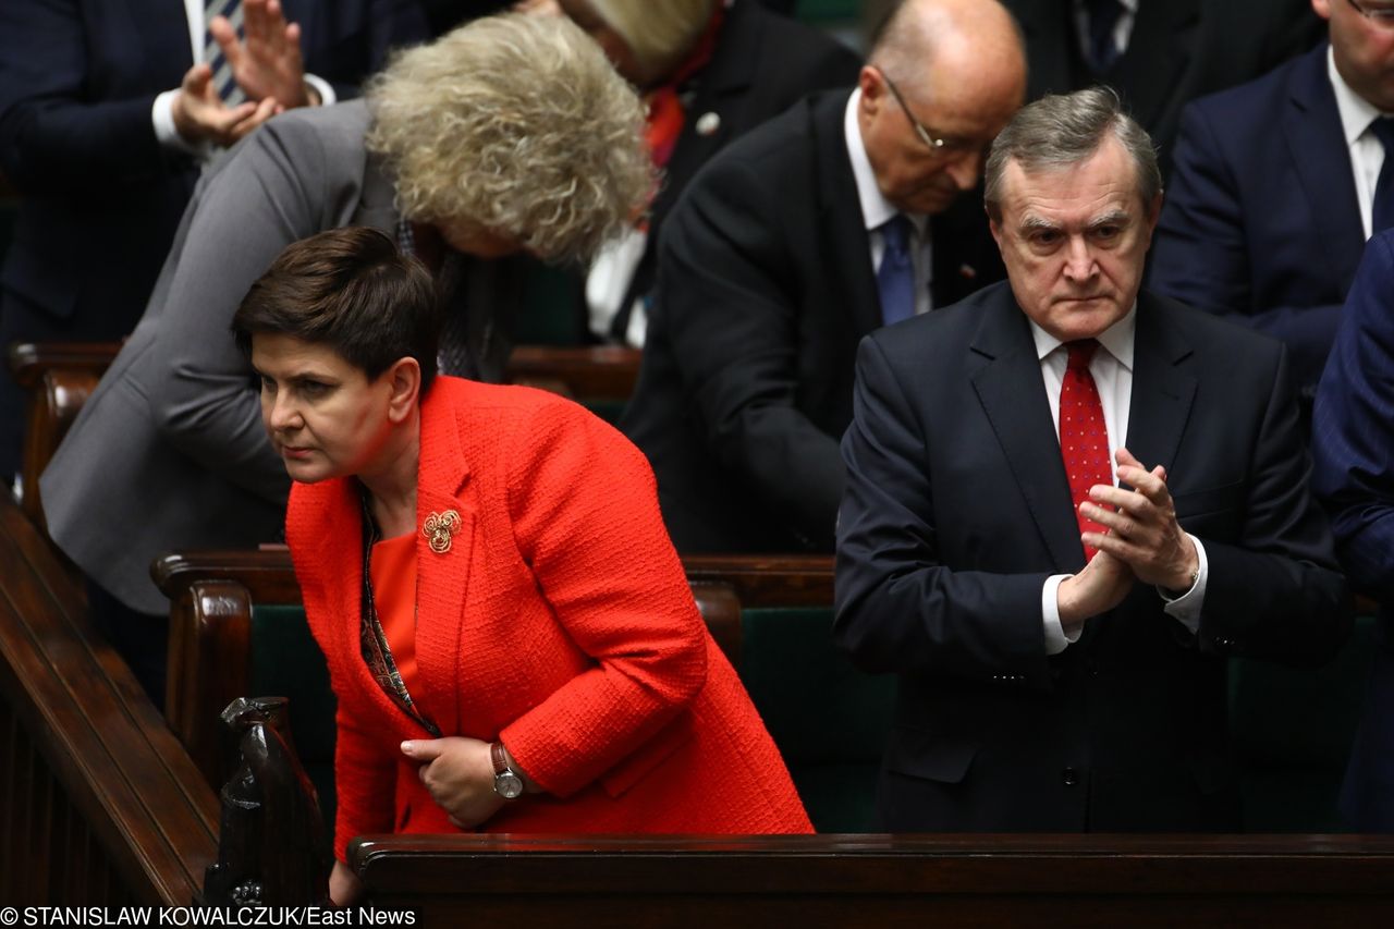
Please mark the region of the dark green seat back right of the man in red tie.
[[1322, 668], [1230, 663], [1230, 730], [1246, 833], [1349, 831], [1337, 795], [1374, 650], [1374, 617]]

